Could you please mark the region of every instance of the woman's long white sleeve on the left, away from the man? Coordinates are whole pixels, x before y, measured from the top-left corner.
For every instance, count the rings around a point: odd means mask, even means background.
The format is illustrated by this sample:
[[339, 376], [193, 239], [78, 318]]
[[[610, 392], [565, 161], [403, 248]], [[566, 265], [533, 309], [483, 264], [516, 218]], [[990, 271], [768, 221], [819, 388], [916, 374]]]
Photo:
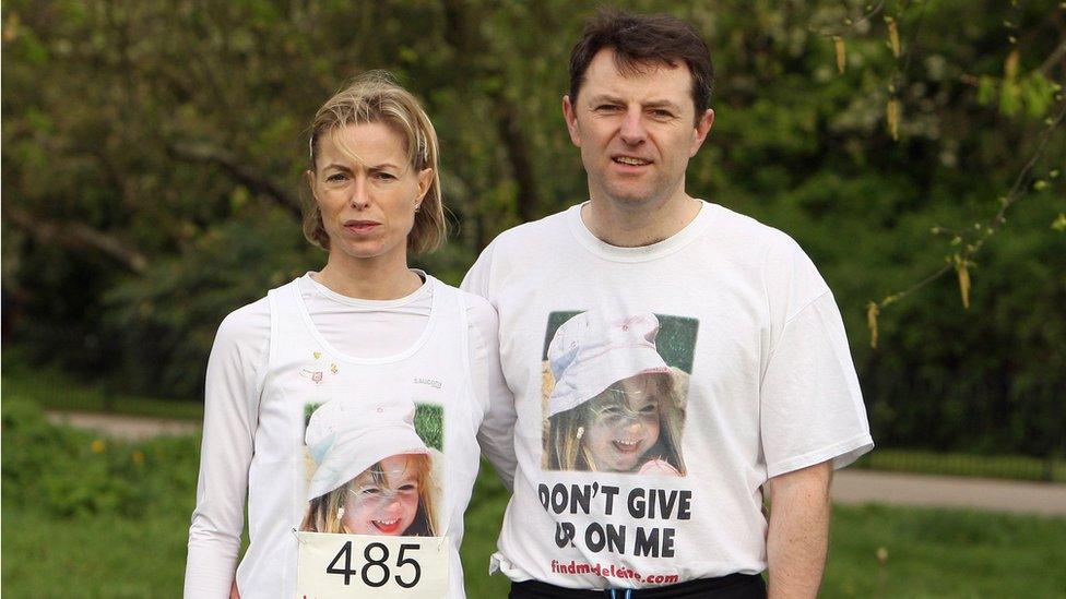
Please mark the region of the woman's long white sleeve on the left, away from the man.
[[197, 506], [189, 527], [187, 598], [229, 596], [269, 348], [265, 299], [226, 316], [211, 348]]

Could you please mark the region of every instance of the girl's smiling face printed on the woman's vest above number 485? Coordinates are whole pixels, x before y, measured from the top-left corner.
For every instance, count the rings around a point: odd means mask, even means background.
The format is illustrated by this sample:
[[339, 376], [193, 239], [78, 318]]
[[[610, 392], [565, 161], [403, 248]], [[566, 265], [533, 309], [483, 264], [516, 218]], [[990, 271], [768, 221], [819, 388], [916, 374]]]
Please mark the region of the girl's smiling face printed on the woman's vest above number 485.
[[[350, 535], [403, 535], [418, 513], [417, 460], [394, 455], [356, 477], [348, 486], [341, 524]], [[371, 470], [380, 468], [375, 477]], [[377, 478], [377, 480], [376, 480]]]

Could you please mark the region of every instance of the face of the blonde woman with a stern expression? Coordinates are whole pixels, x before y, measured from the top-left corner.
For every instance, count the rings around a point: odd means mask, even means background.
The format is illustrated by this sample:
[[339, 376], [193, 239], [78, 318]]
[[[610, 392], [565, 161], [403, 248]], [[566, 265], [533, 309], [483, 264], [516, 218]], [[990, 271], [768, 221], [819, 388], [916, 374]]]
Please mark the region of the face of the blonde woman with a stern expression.
[[407, 233], [433, 169], [416, 171], [400, 135], [378, 122], [322, 135], [317, 149], [316, 170], [308, 176], [330, 238], [330, 259], [386, 256], [406, 263]]

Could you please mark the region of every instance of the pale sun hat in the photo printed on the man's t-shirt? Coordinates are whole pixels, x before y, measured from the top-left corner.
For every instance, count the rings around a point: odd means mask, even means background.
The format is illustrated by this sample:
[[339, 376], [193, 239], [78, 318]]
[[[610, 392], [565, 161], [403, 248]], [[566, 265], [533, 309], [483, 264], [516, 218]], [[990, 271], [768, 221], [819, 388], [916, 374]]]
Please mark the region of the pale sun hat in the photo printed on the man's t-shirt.
[[614, 383], [670, 367], [655, 348], [659, 319], [651, 312], [609, 318], [594, 310], [559, 326], [548, 345], [555, 387], [548, 416], [576, 408]]

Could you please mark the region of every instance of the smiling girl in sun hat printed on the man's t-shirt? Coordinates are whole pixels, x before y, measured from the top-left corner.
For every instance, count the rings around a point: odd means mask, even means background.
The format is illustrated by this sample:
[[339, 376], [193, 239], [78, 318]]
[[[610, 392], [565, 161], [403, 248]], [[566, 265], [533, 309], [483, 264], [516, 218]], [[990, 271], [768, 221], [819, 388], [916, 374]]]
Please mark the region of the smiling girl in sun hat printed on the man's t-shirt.
[[556, 331], [544, 372], [544, 468], [685, 476], [688, 374], [666, 364], [659, 320], [582, 312]]

